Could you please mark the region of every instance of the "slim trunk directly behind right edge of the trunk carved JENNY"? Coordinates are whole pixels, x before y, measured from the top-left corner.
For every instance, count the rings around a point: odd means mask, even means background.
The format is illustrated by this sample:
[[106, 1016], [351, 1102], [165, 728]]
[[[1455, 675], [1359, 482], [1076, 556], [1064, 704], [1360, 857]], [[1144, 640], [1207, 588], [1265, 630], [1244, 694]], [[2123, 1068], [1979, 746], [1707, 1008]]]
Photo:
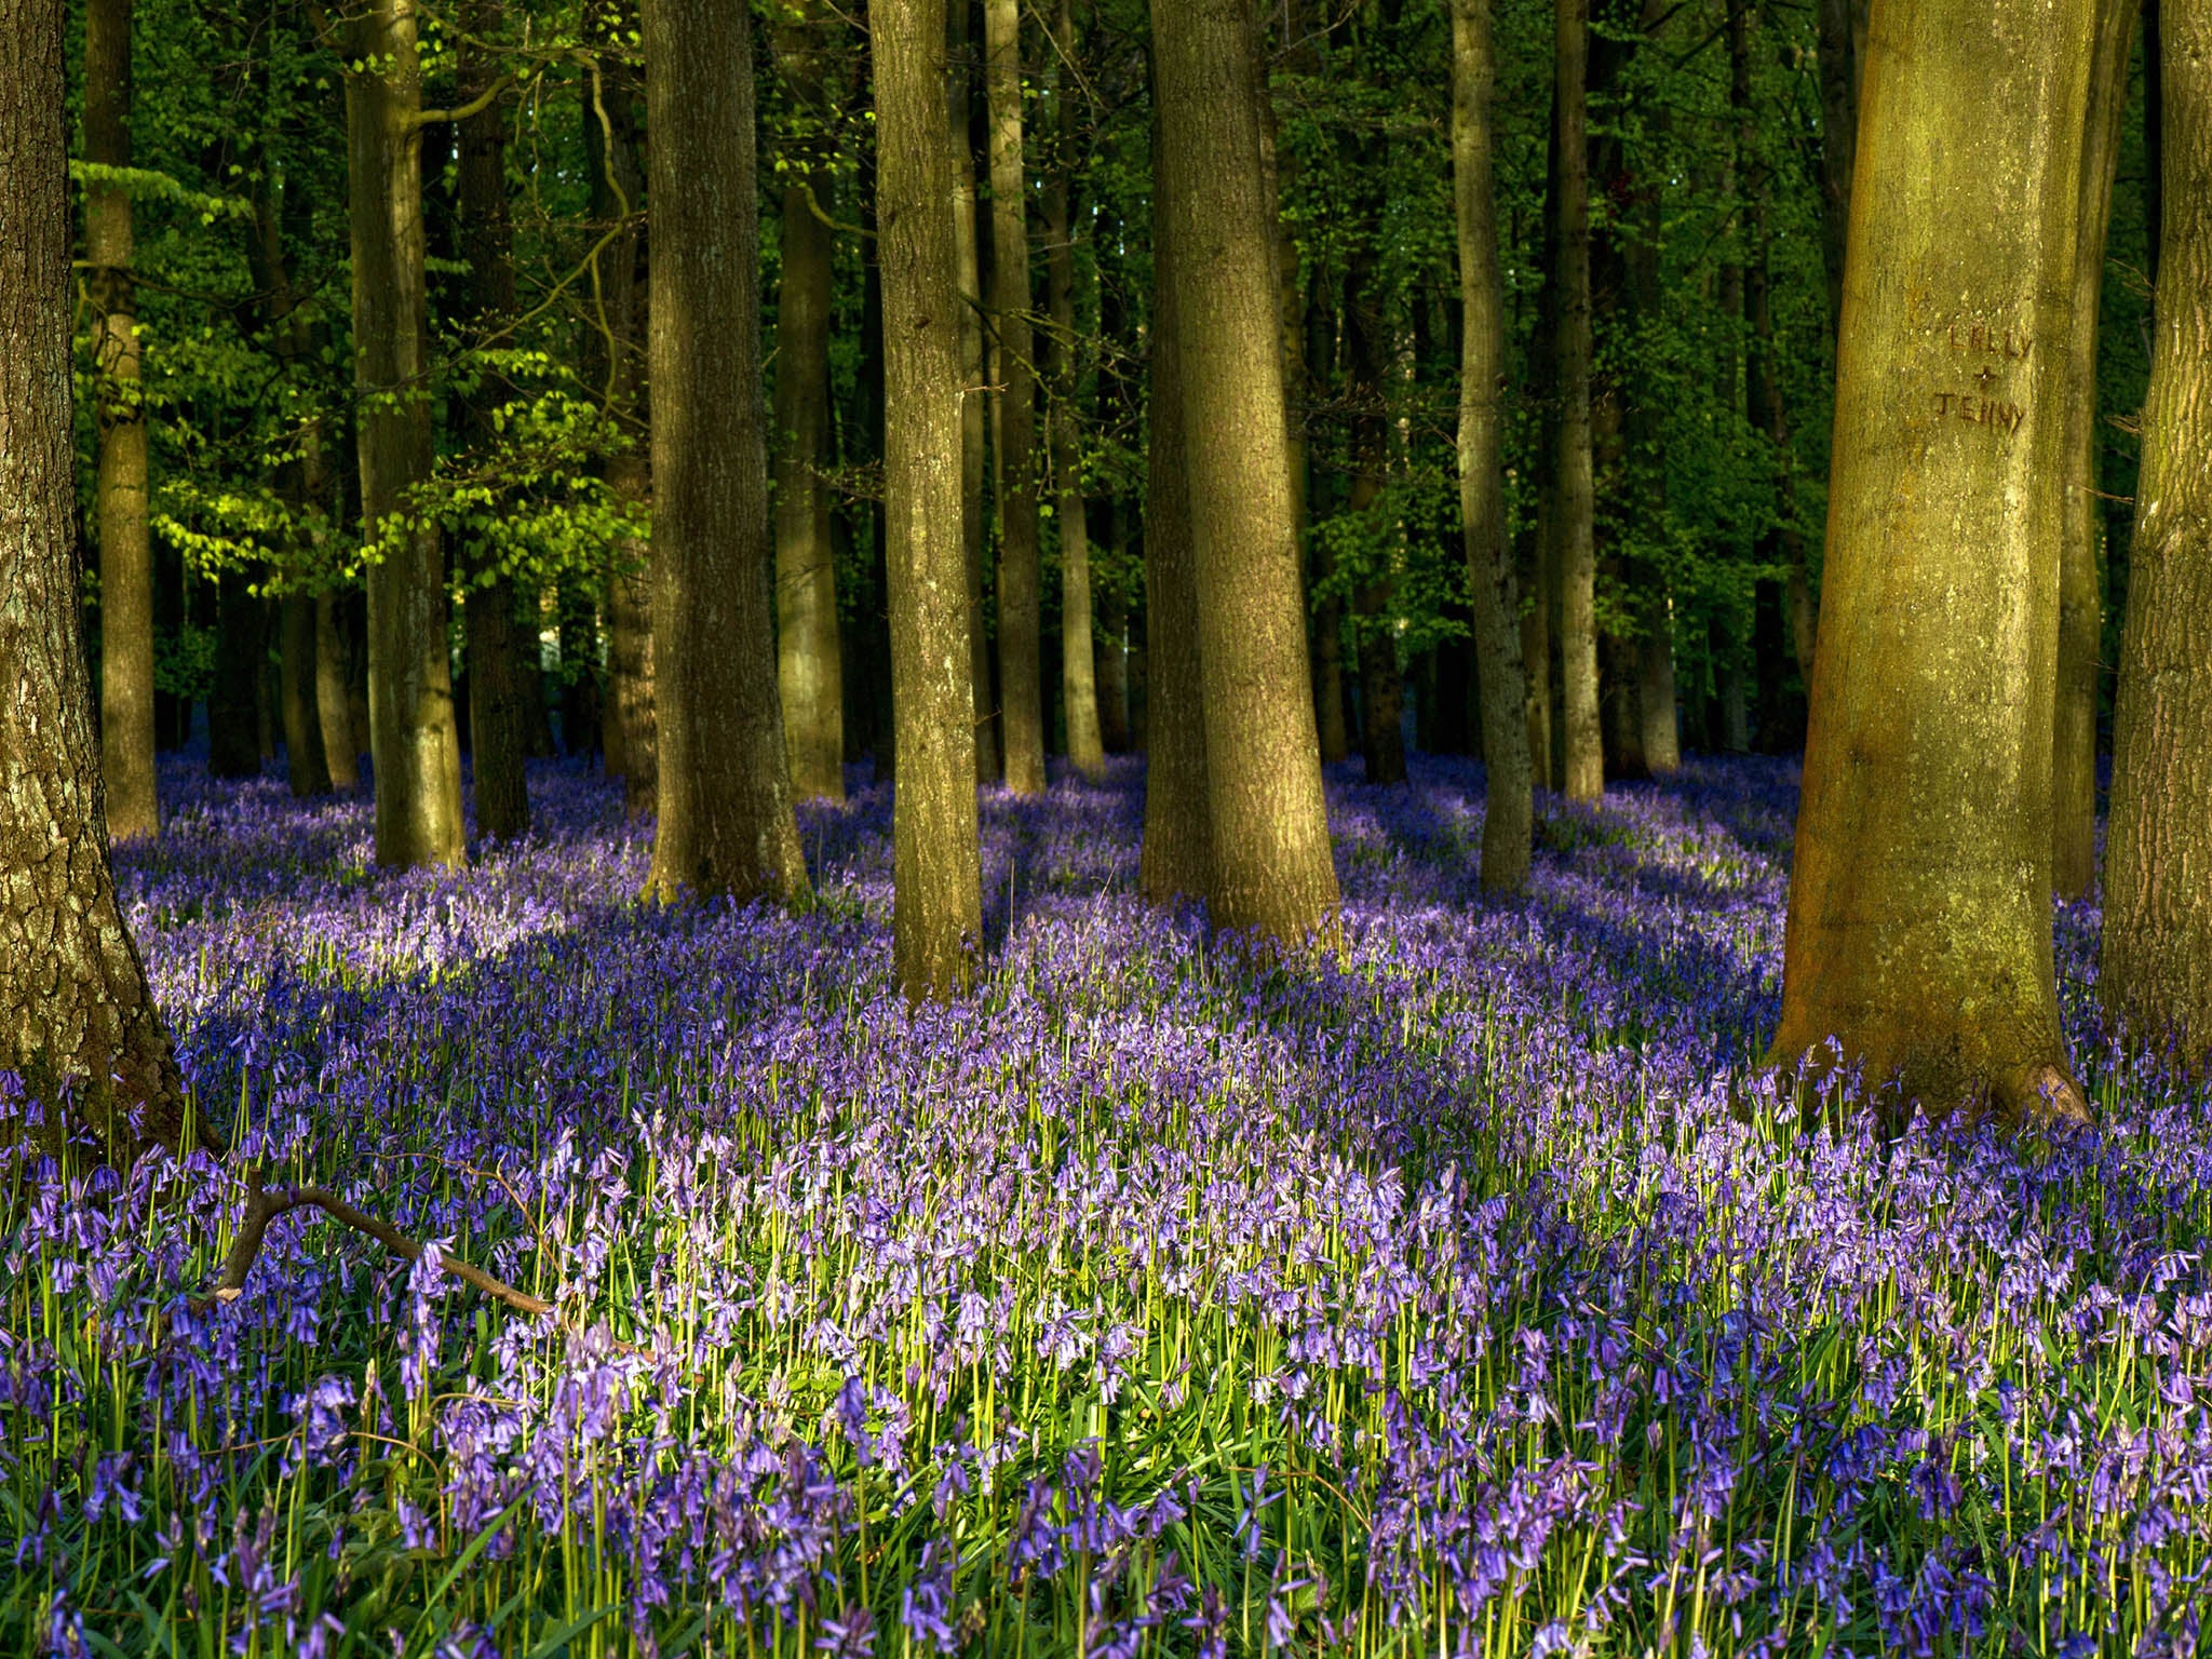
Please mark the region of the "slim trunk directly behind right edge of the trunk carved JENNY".
[[2088, 128], [2081, 150], [2081, 252], [2075, 259], [2073, 341], [2066, 387], [2066, 515], [2059, 542], [2059, 717], [2051, 757], [2051, 887], [2088, 898], [2097, 880], [2097, 688], [2104, 679], [2104, 582], [2097, 546], [2097, 305], [2104, 237], [2112, 219], [2119, 128], [2128, 106], [2135, 0], [2099, 0]]

